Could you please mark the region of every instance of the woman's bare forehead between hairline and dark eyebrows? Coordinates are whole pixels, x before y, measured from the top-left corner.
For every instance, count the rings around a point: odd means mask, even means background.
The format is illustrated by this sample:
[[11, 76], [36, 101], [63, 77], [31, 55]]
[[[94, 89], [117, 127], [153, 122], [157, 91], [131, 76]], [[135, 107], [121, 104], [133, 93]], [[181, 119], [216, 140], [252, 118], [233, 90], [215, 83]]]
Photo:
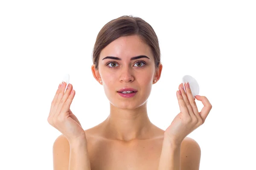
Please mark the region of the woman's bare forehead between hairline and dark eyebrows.
[[102, 49], [99, 59], [106, 56], [114, 56], [130, 59], [138, 55], [146, 55], [152, 58], [151, 48], [143, 42], [139, 36], [131, 35], [119, 37]]

